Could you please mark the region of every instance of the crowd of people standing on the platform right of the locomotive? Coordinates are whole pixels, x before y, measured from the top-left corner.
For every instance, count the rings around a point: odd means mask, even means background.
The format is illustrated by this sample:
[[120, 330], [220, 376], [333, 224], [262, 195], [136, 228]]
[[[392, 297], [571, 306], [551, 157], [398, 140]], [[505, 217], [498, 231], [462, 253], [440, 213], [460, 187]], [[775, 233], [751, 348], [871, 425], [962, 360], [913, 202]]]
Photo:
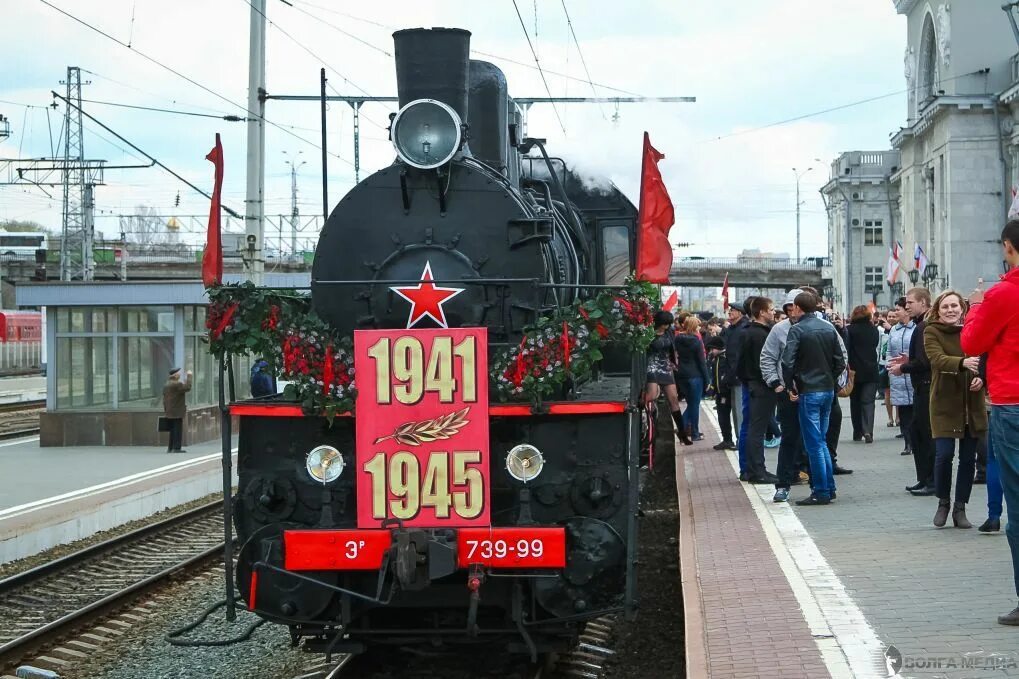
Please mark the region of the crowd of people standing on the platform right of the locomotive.
[[[840, 398], [849, 399], [853, 440], [872, 443], [883, 397], [901, 454], [913, 457], [916, 481], [906, 490], [936, 499], [934, 526], [951, 517], [972, 528], [974, 483], [987, 485], [980, 532], [1000, 531], [1007, 508], [1019, 596], [1019, 220], [1005, 226], [1002, 247], [1011, 269], [986, 293], [931, 299], [913, 288], [888, 311], [856, 307], [848, 322], [809, 286], [790, 291], [781, 308], [751, 297], [725, 320], [660, 311], [646, 397], [665, 391], [684, 445], [703, 438], [701, 399], [713, 399], [721, 432], [714, 450], [737, 451], [740, 480], [773, 484], [775, 503], [809, 484], [799, 506], [830, 505], [836, 476], [853, 473], [838, 464]], [[774, 473], [768, 447], [779, 448]], [[999, 622], [1019, 625], [1019, 607]]]

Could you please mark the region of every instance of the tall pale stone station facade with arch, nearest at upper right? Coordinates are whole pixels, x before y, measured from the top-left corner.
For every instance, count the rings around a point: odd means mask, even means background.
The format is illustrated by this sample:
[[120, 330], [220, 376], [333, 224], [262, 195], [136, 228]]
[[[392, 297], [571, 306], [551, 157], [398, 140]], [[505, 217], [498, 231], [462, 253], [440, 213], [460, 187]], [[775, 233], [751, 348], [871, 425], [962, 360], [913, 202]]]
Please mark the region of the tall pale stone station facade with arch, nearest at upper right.
[[1015, 163], [1006, 138], [1014, 111], [999, 93], [1016, 80], [1016, 40], [997, 1], [897, 0], [896, 9], [907, 17], [909, 90], [906, 125], [892, 137], [903, 269], [918, 244], [937, 265], [927, 286], [969, 291], [1001, 273]]

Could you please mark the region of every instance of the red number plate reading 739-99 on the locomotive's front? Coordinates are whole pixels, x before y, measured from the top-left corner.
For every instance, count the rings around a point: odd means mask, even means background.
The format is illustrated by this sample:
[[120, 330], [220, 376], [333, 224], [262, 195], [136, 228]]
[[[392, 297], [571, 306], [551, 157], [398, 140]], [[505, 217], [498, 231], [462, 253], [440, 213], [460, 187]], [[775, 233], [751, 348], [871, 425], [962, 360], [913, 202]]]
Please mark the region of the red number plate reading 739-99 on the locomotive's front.
[[461, 528], [461, 568], [566, 568], [566, 528]]

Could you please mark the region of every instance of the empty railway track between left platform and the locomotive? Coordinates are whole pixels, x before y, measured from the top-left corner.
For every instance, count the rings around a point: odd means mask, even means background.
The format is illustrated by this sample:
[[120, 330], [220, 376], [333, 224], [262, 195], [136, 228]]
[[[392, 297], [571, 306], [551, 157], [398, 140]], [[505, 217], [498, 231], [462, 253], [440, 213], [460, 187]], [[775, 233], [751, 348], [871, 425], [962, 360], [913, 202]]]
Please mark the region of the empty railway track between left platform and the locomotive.
[[213, 503], [0, 580], [0, 670], [219, 556], [222, 525]]

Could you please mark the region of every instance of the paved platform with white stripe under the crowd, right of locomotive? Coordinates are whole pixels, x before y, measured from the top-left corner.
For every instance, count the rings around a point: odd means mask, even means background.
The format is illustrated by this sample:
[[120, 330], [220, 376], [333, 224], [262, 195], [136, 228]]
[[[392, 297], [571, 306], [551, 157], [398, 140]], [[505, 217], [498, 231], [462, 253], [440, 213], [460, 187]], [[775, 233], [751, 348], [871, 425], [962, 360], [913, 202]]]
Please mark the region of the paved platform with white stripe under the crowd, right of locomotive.
[[[974, 528], [935, 528], [934, 498], [915, 498], [913, 458], [875, 410], [874, 442], [852, 441], [849, 403], [829, 506], [772, 503], [770, 485], [738, 478], [735, 452], [707, 408], [703, 441], [677, 446], [687, 676], [1019, 677], [1016, 605], [1000, 533], [982, 534], [986, 489], [974, 485]], [[777, 449], [766, 450], [775, 468]], [[1004, 523], [1004, 518], [1003, 518]]]

